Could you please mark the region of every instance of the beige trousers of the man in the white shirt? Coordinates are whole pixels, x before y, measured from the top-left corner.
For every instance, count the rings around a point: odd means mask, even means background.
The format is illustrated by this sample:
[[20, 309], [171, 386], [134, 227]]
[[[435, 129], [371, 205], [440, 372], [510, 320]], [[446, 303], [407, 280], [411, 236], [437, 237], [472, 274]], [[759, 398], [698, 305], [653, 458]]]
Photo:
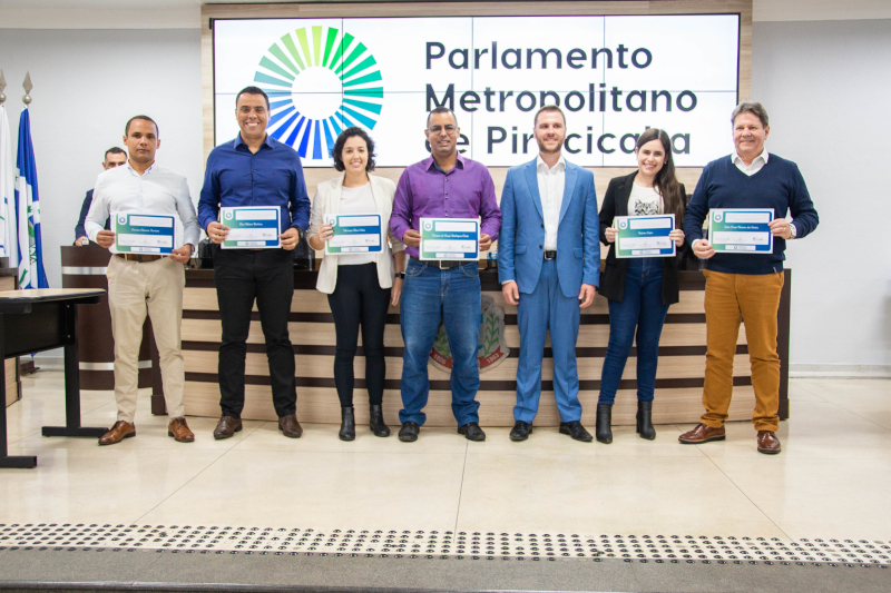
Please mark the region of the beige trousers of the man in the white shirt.
[[108, 263], [108, 306], [115, 337], [115, 398], [118, 421], [133, 424], [139, 382], [139, 345], [146, 312], [151, 318], [155, 344], [160, 357], [164, 399], [172, 418], [185, 415], [183, 387], [185, 372], [180, 352], [179, 325], [183, 319], [183, 264], [169, 257], [141, 264], [111, 256]]

